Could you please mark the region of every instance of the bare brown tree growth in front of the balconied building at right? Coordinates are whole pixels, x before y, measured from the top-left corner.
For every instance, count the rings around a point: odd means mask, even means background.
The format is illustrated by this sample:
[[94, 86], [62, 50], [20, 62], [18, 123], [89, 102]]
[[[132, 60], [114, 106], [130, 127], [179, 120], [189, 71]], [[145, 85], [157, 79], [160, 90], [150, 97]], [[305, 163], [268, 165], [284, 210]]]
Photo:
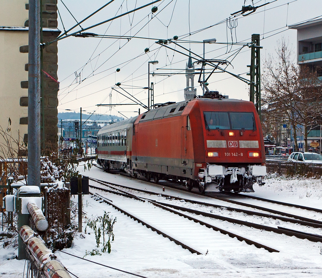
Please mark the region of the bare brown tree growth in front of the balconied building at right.
[[294, 51], [282, 38], [276, 49], [277, 59], [268, 55], [262, 75], [264, 105], [271, 121], [288, 120], [293, 130], [295, 151], [298, 150], [297, 130], [303, 125], [305, 150], [308, 151], [308, 133], [321, 118], [321, 81], [316, 72], [294, 63]]

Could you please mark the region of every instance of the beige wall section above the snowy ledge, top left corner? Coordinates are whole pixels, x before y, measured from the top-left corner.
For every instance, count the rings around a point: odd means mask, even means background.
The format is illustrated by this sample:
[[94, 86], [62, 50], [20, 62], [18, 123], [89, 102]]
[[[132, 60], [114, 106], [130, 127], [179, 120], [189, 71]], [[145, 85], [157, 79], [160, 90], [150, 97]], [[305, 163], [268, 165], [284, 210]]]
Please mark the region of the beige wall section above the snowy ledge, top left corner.
[[0, 26], [24, 26], [28, 19], [25, 4], [28, 3], [28, 0], [0, 0]]

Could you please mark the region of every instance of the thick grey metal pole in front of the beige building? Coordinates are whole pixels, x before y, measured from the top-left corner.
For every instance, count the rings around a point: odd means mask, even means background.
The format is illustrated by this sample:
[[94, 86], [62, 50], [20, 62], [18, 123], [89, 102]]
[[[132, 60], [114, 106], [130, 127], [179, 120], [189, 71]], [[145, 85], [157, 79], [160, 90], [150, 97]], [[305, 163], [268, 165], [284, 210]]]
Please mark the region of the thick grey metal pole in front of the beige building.
[[40, 2], [29, 0], [28, 184], [40, 187]]

